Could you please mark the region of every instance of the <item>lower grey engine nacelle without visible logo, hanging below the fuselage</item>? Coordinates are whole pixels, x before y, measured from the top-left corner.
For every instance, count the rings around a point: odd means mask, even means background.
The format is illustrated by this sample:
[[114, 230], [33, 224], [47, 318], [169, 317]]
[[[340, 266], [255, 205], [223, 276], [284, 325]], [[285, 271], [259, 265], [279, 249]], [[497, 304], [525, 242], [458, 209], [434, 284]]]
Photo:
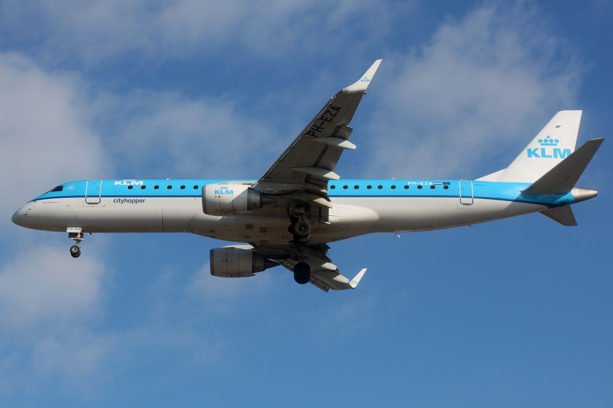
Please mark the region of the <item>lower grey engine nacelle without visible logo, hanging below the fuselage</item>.
[[211, 275], [213, 276], [244, 278], [278, 265], [275, 261], [270, 261], [260, 254], [243, 248], [223, 247], [211, 250]]

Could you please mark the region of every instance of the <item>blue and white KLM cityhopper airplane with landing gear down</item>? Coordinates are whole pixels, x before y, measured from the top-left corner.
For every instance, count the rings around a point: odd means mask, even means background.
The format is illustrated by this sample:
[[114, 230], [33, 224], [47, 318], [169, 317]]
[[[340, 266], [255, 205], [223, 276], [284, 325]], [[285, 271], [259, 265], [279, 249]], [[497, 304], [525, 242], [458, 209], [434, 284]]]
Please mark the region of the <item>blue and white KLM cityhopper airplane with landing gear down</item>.
[[418, 232], [539, 212], [577, 225], [571, 205], [597, 195], [575, 187], [604, 139], [575, 150], [582, 111], [561, 111], [511, 165], [476, 180], [341, 180], [355, 149], [349, 126], [381, 59], [337, 92], [257, 180], [80, 180], [52, 188], [12, 216], [26, 228], [68, 233], [189, 232], [247, 245], [210, 250], [211, 275], [254, 276], [283, 265], [299, 284], [355, 289], [329, 258], [330, 242], [373, 232]]

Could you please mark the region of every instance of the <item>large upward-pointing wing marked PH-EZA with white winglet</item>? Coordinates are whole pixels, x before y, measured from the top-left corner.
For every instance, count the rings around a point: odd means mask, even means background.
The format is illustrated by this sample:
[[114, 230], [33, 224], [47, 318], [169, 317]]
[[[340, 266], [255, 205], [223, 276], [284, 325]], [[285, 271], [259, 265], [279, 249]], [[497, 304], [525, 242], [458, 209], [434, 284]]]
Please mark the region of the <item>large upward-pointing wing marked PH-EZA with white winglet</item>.
[[[287, 199], [324, 207], [326, 216], [320, 218], [326, 222], [327, 208], [332, 207], [327, 197], [328, 180], [340, 178], [334, 169], [343, 150], [356, 148], [349, 142], [353, 130], [349, 122], [379, 64], [381, 59], [375, 61], [360, 80], [330, 98], [302, 133], [260, 177], [254, 188], [273, 193], [277, 197], [287, 195]], [[287, 209], [287, 202], [279, 202], [276, 207]], [[254, 215], [273, 214], [254, 212]]]

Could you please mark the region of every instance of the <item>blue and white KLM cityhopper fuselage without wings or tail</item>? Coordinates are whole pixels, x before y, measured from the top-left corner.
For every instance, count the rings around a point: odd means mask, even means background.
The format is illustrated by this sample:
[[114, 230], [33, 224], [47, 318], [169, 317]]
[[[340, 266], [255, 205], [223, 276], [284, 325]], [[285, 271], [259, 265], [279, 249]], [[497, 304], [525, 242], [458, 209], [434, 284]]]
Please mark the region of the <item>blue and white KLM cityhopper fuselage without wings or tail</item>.
[[[287, 216], [205, 214], [202, 187], [224, 181], [69, 182], [29, 201], [15, 212], [13, 222], [61, 232], [79, 226], [92, 233], [191, 232], [234, 242], [287, 243], [292, 239]], [[543, 196], [521, 193], [529, 185], [472, 180], [337, 180], [329, 184], [330, 222], [313, 228], [310, 242], [482, 223], [568, 206], [582, 198], [577, 193], [573, 196], [573, 191]]]

